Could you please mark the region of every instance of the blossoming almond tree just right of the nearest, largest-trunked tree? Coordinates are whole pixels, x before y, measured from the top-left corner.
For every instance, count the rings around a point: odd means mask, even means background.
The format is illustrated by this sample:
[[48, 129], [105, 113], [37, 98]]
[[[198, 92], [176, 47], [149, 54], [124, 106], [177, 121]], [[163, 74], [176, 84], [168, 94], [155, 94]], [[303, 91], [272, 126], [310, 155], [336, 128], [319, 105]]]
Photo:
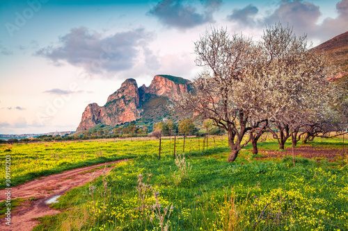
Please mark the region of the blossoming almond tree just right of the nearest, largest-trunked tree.
[[[308, 49], [306, 35], [296, 37], [292, 28], [281, 24], [269, 26], [262, 36], [268, 64], [262, 76], [268, 79], [272, 125], [269, 130], [278, 140], [279, 148], [289, 137], [296, 144], [296, 134], [303, 126], [326, 117], [323, 112], [331, 101], [331, 85], [326, 78], [332, 74], [324, 53]], [[318, 115], [321, 114], [321, 118]]]

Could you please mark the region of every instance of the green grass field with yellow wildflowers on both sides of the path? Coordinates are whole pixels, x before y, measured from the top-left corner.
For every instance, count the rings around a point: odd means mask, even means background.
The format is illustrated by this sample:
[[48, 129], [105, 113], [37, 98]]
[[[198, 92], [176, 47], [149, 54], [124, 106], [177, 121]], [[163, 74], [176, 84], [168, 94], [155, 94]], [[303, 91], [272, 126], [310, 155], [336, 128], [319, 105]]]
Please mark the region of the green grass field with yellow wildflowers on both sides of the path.
[[[182, 144], [177, 139], [177, 153]], [[185, 159], [176, 162], [173, 139], [162, 140], [160, 160], [158, 140], [20, 144], [2, 146], [1, 155], [13, 158], [15, 182], [137, 157], [68, 191], [52, 205], [62, 213], [41, 218], [35, 230], [348, 230], [347, 158], [298, 157], [293, 167], [290, 157], [258, 160], [262, 155], [251, 155], [247, 146], [229, 163], [225, 139], [209, 138], [208, 144], [203, 151], [202, 138], [199, 145], [187, 139]], [[342, 139], [306, 146], [342, 148]], [[259, 148], [278, 145], [269, 139]]]

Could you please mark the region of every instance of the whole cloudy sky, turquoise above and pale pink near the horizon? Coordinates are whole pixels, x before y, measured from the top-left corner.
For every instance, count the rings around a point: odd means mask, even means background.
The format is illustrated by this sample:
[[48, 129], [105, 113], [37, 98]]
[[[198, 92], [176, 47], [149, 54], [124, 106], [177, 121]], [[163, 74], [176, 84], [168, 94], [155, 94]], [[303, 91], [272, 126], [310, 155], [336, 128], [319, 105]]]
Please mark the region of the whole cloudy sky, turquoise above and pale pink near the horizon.
[[76, 130], [127, 78], [193, 79], [212, 28], [260, 40], [278, 22], [317, 46], [348, 31], [348, 0], [0, 1], [0, 134]]

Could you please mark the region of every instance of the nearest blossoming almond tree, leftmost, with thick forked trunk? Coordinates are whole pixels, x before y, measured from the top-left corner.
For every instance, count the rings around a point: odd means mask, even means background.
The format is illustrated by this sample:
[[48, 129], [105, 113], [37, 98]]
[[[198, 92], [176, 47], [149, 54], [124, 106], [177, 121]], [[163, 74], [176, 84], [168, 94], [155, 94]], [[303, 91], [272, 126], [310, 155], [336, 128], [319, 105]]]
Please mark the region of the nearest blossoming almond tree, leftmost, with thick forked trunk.
[[[212, 30], [195, 43], [196, 65], [205, 67], [193, 82], [193, 91], [185, 94], [177, 104], [192, 111], [201, 119], [212, 119], [214, 126], [227, 131], [230, 145], [229, 162], [248, 144], [243, 137], [252, 128], [247, 122], [256, 112], [260, 87], [257, 71], [262, 66], [260, 47], [251, 38], [232, 35], [226, 30]], [[260, 85], [261, 86], [261, 85]], [[262, 86], [261, 86], [262, 87]]]

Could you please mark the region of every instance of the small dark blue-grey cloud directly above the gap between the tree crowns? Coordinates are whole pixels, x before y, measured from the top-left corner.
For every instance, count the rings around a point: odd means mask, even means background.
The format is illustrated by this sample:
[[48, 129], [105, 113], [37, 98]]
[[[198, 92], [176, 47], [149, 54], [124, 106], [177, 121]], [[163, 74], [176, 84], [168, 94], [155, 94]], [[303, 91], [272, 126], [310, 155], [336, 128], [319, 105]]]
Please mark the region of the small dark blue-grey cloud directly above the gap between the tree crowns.
[[235, 9], [231, 15], [228, 15], [229, 21], [235, 21], [243, 24], [244, 26], [253, 26], [255, 24], [254, 17], [258, 14], [258, 8], [250, 4], [243, 9]]

